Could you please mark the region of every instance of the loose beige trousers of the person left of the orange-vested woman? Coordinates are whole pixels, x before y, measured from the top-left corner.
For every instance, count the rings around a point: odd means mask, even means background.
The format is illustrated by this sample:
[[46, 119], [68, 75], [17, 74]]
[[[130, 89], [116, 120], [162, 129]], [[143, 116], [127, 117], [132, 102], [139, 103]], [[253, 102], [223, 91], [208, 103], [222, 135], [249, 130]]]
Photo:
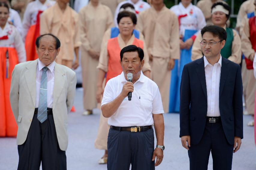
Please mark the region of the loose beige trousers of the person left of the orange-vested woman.
[[96, 91], [98, 78], [98, 59], [92, 58], [87, 51], [81, 50], [81, 67], [83, 76], [83, 107], [92, 110], [97, 106]]

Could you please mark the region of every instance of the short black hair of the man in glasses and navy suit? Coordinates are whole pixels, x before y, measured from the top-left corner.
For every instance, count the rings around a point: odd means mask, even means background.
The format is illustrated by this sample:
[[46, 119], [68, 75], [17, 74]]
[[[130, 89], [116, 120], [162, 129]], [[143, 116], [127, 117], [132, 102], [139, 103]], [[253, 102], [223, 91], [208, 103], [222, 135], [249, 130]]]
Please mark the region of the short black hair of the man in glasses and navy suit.
[[227, 32], [224, 28], [219, 27], [217, 25], [206, 25], [201, 30], [201, 36], [203, 37], [203, 34], [205, 32], [210, 32], [213, 34], [213, 37], [219, 37], [220, 40], [227, 40]]

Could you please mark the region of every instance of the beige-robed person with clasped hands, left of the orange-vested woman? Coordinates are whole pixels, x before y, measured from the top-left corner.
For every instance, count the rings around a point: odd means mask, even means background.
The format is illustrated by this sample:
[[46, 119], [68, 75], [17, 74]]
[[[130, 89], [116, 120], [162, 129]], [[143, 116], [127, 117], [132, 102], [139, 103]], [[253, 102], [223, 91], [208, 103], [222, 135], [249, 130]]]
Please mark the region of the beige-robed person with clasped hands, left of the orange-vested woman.
[[101, 42], [105, 31], [113, 26], [111, 10], [99, 0], [91, 0], [79, 12], [81, 65], [83, 75], [83, 115], [92, 114], [97, 106], [96, 84], [98, 76], [98, 59]]

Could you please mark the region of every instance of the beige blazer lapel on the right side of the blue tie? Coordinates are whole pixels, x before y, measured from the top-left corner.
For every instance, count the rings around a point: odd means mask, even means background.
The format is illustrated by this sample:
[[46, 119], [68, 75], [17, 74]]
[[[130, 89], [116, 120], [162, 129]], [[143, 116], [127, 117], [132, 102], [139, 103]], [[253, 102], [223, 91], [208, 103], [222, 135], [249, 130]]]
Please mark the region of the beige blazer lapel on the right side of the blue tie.
[[65, 77], [64, 77], [65, 73], [62, 70], [62, 68], [59, 66], [59, 64], [55, 63], [54, 71], [55, 73], [54, 73], [54, 88], [53, 88], [53, 110], [59, 99], [59, 96], [62, 92], [64, 83], [65, 83]]

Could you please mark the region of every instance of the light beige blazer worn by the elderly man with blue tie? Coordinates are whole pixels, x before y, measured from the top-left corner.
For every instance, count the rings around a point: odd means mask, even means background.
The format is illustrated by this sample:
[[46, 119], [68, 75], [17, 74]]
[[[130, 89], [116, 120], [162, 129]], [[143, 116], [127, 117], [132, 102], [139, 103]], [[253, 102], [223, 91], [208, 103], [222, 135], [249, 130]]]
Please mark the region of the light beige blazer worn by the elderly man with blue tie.
[[[17, 145], [22, 145], [29, 132], [35, 111], [36, 69], [38, 59], [17, 64], [12, 72], [10, 102], [18, 124]], [[74, 103], [76, 74], [70, 68], [55, 63], [53, 89], [53, 119], [59, 147], [68, 147], [68, 113]]]

